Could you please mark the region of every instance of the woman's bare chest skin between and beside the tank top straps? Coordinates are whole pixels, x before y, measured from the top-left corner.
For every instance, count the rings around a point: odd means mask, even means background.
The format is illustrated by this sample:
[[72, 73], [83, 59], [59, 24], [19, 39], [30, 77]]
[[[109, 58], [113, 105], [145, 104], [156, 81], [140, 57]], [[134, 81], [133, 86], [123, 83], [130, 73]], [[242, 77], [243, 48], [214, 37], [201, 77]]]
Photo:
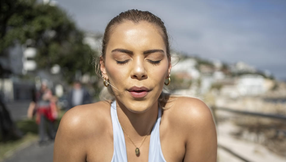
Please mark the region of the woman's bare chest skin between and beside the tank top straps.
[[[111, 161], [114, 154], [114, 143], [113, 143], [113, 131], [112, 125], [109, 128], [111, 131], [102, 132], [100, 137], [94, 137], [88, 139], [86, 160], [88, 162], [96, 161]], [[167, 127], [165, 123], [160, 124], [160, 143], [161, 152], [166, 161], [183, 161], [185, 154], [185, 144], [181, 140], [181, 132], [174, 132]], [[150, 135], [146, 137], [142, 143], [140, 150], [140, 155], [136, 156], [136, 147], [130, 141], [130, 139], [124, 134], [126, 154], [128, 161], [148, 161], [149, 155], [149, 145], [150, 145]], [[141, 141], [138, 141], [140, 145]]]

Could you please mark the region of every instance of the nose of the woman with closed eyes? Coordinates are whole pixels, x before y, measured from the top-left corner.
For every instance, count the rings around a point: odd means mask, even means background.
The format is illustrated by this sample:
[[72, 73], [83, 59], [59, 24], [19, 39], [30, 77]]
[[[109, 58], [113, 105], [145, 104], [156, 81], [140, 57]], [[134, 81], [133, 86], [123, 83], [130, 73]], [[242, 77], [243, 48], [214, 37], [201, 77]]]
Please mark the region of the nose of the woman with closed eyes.
[[143, 80], [147, 78], [147, 72], [144, 66], [144, 59], [136, 58], [133, 60], [133, 67], [131, 70], [131, 78]]

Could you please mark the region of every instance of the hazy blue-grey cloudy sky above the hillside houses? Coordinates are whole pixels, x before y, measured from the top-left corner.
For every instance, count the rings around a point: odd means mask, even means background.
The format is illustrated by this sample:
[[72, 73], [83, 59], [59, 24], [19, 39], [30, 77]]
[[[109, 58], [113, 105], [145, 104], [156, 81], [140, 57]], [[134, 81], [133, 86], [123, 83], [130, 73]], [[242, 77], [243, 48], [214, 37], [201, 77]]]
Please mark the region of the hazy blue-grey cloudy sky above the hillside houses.
[[99, 33], [120, 12], [150, 11], [165, 22], [175, 51], [243, 61], [286, 79], [285, 0], [57, 1], [80, 28]]

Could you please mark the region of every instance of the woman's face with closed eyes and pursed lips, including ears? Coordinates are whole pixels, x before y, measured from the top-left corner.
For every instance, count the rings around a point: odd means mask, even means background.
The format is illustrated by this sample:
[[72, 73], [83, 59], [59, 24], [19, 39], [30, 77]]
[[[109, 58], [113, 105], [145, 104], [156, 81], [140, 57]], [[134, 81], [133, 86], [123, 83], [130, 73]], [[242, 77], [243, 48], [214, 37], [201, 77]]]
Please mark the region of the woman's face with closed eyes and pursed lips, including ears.
[[157, 104], [171, 63], [158, 28], [147, 22], [125, 22], [112, 31], [100, 69], [116, 99], [140, 113]]

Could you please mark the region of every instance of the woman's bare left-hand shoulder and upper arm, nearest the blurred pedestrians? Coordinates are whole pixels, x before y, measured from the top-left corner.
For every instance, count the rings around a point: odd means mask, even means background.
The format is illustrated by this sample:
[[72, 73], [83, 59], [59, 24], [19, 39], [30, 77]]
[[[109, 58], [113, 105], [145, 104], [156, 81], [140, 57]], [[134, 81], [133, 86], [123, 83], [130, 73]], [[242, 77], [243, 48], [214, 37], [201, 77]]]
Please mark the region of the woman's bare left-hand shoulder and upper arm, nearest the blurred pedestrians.
[[108, 102], [80, 105], [68, 110], [57, 130], [54, 161], [86, 161], [88, 145], [112, 130], [109, 116]]

